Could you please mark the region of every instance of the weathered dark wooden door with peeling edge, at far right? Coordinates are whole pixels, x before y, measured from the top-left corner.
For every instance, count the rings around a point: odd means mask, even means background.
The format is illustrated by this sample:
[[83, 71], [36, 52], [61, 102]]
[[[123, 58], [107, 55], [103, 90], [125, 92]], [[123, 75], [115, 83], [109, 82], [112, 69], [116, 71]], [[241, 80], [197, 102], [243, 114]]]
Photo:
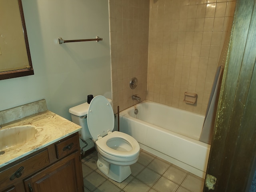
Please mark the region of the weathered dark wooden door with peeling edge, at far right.
[[204, 192], [246, 192], [255, 171], [256, 0], [237, 0], [231, 34]]

